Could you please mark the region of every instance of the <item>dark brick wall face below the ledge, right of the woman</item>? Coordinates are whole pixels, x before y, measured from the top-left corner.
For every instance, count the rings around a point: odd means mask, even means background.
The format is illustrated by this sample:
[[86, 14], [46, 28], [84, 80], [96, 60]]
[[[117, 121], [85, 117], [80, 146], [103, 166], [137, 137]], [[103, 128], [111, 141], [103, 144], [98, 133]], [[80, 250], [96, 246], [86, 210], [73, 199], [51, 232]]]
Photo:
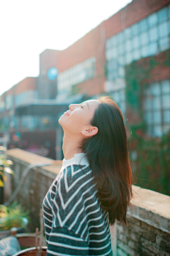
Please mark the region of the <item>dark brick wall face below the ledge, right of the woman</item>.
[[128, 215], [128, 225], [117, 225], [119, 256], [168, 256], [170, 234]]

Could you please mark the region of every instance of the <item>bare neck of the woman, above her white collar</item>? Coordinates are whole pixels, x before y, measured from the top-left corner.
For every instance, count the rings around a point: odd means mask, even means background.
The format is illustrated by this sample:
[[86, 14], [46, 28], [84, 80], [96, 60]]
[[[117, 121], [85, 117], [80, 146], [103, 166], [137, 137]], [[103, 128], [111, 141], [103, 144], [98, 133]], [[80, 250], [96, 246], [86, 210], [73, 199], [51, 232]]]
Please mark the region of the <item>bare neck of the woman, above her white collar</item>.
[[64, 159], [69, 160], [74, 157], [74, 154], [82, 153], [82, 141], [77, 137], [72, 137], [68, 134], [64, 134], [62, 151]]

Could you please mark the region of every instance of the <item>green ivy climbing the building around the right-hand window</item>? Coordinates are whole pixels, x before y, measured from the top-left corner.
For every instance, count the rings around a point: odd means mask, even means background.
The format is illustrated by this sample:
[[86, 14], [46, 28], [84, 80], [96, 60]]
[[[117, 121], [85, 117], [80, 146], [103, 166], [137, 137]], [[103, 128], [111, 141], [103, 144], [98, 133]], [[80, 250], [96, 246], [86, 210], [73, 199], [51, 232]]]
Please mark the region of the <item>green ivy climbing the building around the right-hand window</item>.
[[[163, 59], [162, 56], [149, 57], [125, 67], [125, 94], [127, 109], [140, 116], [137, 124], [130, 124], [130, 159], [136, 185], [170, 196], [170, 132], [162, 137], [147, 137], [142, 110], [144, 90], [152, 78], [152, 70], [157, 65], [170, 68], [170, 51], [166, 50], [163, 55]], [[132, 157], [134, 155], [136, 158]]]

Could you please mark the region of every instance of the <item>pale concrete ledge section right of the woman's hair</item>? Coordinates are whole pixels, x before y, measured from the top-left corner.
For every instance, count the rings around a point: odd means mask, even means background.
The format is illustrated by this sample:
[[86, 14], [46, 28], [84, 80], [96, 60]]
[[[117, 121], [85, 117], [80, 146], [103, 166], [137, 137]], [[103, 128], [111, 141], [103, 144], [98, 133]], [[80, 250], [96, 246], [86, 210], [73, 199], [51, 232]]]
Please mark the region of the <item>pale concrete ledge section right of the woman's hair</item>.
[[134, 198], [128, 215], [170, 234], [170, 196], [132, 186]]

